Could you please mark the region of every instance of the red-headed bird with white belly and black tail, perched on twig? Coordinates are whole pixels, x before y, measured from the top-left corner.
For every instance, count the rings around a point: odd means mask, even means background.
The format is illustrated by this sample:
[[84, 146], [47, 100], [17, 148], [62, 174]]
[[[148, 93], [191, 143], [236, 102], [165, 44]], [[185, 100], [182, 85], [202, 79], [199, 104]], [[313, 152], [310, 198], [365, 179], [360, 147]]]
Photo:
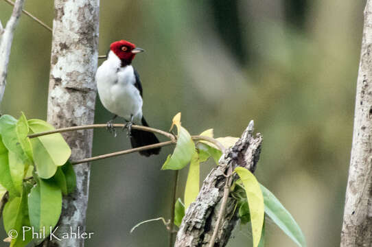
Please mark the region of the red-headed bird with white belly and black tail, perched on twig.
[[[95, 73], [97, 91], [104, 108], [113, 113], [113, 119], [107, 122], [108, 130], [113, 130], [113, 121], [117, 116], [126, 120], [132, 148], [159, 143], [152, 132], [132, 129], [132, 124], [148, 126], [142, 114], [143, 90], [139, 73], [132, 66], [135, 56], [144, 50], [127, 40], [111, 43], [107, 59]], [[116, 133], [115, 133], [116, 136]], [[143, 156], [159, 154], [160, 148], [139, 151]]]

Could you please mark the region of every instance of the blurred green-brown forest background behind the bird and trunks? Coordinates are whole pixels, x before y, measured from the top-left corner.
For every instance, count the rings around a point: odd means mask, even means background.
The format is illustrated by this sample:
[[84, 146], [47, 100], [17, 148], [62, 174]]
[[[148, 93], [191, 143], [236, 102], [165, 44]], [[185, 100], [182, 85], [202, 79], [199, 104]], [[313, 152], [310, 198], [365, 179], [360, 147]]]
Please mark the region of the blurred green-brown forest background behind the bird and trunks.
[[[191, 134], [214, 128], [216, 137], [240, 137], [254, 119], [264, 135], [258, 180], [292, 213], [308, 246], [338, 246], [364, 3], [101, 1], [100, 54], [119, 39], [146, 49], [133, 64], [143, 84], [144, 115], [155, 128], [168, 130], [182, 112]], [[53, 1], [26, 1], [25, 10], [52, 25]], [[11, 12], [0, 1], [3, 25]], [[50, 49], [51, 33], [23, 15], [1, 113], [18, 117], [22, 110], [27, 118], [46, 119]], [[110, 118], [97, 98], [95, 122]], [[94, 155], [129, 147], [126, 132], [114, 138], [95, 130]], [[161, 222], [129, 231], [143, 220], [170, 217], [174, 173], [160, 170], [170, 152], [92, 163], [86, 228], [94, 237], [86, 246], [166, 246]], [[202, 166], [202, 178], [211, 167]], [[186, 174], [183, 169], [181, 198]], [[275, 224], [266, 225], [267, 246], [295, 246]], [[248, 227], [237, 226], [229, 247], [251, 242]]]

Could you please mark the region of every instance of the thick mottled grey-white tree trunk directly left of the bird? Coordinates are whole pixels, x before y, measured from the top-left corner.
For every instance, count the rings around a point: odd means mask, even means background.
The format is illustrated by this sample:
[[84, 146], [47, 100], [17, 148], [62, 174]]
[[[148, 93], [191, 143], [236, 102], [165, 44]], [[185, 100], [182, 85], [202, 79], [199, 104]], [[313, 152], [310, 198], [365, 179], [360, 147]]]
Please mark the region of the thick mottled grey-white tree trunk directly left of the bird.
[[[55, 0], [48, 115], [56, 128], [93, 124], [97, 69], [99, 0]], [[63, 133], [71, 147], [72, 160], [91, 156], [93, 130]], [[88, 163], [74, 166], [75, 193], [64, 198], [58, 230], [54, 235], [85, 229], [88, 203]], [[84, 239], [54, 240], [47, 246], [84, 246]], [[45, 245], [45, 244], [44, 244]]]

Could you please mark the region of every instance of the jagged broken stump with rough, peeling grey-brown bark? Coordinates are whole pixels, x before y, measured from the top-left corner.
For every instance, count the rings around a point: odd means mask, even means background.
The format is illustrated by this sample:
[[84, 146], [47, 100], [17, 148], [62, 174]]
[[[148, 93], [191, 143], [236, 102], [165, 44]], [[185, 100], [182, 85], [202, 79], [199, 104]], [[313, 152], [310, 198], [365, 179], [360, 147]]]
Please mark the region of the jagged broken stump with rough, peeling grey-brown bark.
[[[255, 171], [261, 152], [262, 137], [253, 137], [253, 121], [242, 134], [235, 145], [227, 150], [220, 158], [220, 165], [212, 169], [205, 178], [196, 201], [191, 203], [183, 218], [176, 237], [176, 247], [209, 246], [213, 229], [218, 219], [218, 212], [224, 193], [224, 174], [229, 166], [242, 166]], [[233, 176], [233, 181], [237, 176]], [[226, 211], [216, 238], [215, 246], [226, 246], [231, 231], [237, 223], [237, 211], [234, 211], [236, 200], [229, 197]]]

